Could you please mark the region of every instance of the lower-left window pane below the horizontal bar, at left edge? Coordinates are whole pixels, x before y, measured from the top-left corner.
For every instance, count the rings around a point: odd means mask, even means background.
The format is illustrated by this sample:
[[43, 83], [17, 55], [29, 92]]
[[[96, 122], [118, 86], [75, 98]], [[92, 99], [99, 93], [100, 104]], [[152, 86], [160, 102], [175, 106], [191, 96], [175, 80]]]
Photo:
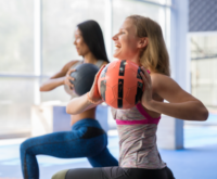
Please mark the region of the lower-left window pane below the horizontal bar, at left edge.
[[0, 78], [0, 133], [30, 130], [34, 79]]

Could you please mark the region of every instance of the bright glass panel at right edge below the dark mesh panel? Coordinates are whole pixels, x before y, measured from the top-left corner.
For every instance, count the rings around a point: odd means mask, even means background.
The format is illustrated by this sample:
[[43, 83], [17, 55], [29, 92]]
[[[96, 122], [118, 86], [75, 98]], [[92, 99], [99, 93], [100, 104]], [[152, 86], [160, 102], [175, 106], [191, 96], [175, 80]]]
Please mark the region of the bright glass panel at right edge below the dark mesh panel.
[[207, 106], [217, 105], [217, 35], [191, 37], [191, 92]]

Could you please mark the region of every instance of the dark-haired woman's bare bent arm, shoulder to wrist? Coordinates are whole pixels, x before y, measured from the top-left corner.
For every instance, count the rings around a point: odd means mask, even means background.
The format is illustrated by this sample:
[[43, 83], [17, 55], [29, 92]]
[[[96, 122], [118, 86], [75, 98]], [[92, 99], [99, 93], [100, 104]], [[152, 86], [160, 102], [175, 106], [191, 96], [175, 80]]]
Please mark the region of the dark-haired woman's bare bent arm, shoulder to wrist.
[[46, 82], [43, 82], [40, 86], [40, 91], [51, 91], [59, 86], [65, 85], [66, 84], [65, 76], [68, 69], [71, 68], [71, 66], [73, 66], [76, 62], [77, 61], [71, 61], [65, 66], [63, 66], [63, 68], [59, 73], [50, 77]]

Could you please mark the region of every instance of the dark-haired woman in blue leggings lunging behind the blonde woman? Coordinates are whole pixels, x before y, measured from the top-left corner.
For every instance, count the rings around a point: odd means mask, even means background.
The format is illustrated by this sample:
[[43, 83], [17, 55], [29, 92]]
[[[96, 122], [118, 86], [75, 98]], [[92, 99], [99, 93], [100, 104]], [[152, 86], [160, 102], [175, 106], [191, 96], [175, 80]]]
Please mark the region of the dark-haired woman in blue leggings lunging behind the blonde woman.
[[[71, 61], [43, 82], [40, 91], [51, 91], [64, 86], [72, 99], [76, 97], [69, 76], [81, 63], [91, 63], [99, 68], [108, 63], [102, 30], [94, 21], [77, 25], [74, 44], [82, 61]], [[117, 166], [116, 158], [107, 150], [107, 136], [98, 120], [95, 107], [72, 115], [72, 131], [53, 132], [30, 138], [21, 144], [21, 163], [24, 179], [38, 179], [39, 167], [36, 155], [50, 155], [60, 158], [87, 157], [93, 167]], [[61, 120], [61, 118], [60, 118]]]

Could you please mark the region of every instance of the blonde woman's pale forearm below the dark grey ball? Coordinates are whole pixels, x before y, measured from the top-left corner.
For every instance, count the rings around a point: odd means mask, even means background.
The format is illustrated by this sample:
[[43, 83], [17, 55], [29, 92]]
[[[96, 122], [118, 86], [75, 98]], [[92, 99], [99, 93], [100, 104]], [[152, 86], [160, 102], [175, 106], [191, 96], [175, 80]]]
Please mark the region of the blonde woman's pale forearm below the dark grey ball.
[[92, 104], [90, 101], [88, 101], [87, 94], [84, 94], [81, 97], [74, 98], [69, 101], [69, 103], [66, 106], [66, 113], [75, 115], [82, 113], [88, 108], [92, 108], [97, 105], [98, 104]]

